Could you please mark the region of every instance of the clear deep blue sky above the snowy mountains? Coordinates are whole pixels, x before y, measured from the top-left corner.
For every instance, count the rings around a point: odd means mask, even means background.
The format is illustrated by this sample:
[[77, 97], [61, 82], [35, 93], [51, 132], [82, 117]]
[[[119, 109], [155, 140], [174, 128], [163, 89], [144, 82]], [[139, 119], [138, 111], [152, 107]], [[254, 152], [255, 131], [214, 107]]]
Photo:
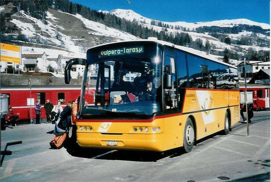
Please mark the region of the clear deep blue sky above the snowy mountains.
[[269, 0], [71, 0], [95, 10], [133, 10], [164, 22], [210, 22], [246, 18], [270, 24]]

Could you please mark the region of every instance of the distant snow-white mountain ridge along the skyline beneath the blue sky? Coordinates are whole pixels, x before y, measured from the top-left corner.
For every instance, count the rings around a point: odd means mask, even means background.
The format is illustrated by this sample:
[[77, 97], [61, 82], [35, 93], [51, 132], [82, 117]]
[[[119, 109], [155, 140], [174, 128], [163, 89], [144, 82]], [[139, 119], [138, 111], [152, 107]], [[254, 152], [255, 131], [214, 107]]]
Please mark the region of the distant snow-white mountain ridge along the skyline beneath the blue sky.
[[[137, 14], [133, 10], [123, 10], [123, 9], [116, 9], [112, 11], [102, 11], [103, 13], [110, 13], [115, 14], [119, 18], [125, 18], [127, 20], [133, 21], [136, 19], [139, 22], [146, 22], [146, 24], [151, 24], [151, 19], [141, 16]], [[159, 20], [158, 20], [159, 21]], [[169, 26], [182, 26], [189, 29], [198, 28], [200, 26], [220, 26], [220, 27], [233, 27], [239, 24], [245, 25], [255, 25], [261, 26], [263, 29], [270, 29], [270, 25], [266, 23], [258, 23], [253, 22], [248, 19], [233, 19], [233, 20], [219, 20], [219, 21], [212, 21], [212, 22], [195, 22], [195, 23], [187, 23], [187, 22], [162, 22], [164, 24], [168, 24]]]

